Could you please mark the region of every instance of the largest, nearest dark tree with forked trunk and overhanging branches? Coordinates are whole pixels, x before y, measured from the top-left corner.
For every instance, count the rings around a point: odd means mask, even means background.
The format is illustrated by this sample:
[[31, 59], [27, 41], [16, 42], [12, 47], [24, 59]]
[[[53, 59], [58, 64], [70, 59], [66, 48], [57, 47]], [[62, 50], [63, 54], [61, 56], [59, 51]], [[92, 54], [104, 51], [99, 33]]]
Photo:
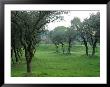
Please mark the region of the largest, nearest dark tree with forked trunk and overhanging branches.
[[[39, 43], [39, 35], [45, 29], [45, 25], [57, 19], [62, 19], [60, 14], [64, 11], [12, 11], [11, 22], [17, 26], [16, 39], [24, 48], [27, 62], [27, 72], [31, 73], [31, 61]], [[11, 26], [13, 27], [13, 25]], [[11, 28], [15, 30], [15, 28]], [[13, 33], [15, 34], [15, 33]], [[12, 37], [14, 38], [14, 37]], [[15, 40], [16, 41], [16, 40]]]

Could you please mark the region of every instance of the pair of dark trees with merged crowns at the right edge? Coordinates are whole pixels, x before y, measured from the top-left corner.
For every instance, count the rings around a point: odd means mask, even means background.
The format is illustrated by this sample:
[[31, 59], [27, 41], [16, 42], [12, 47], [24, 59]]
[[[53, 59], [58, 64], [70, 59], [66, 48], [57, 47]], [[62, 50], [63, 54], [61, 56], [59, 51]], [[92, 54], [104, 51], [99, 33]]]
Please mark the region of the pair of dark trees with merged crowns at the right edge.
[[76, 28], [82, 38], [86, 48], [86, 55], [88, 55], [88, 43], [92, 46], [92, 55], [94, 55], [96, 44], [100, 39], [100, 13], [91, 14], [90, 17], [84, 19], [83, 22], [80, 22], [78, 18], [74, 18], [71, 21], [71, 26], [75, 26], [74, 28]]

